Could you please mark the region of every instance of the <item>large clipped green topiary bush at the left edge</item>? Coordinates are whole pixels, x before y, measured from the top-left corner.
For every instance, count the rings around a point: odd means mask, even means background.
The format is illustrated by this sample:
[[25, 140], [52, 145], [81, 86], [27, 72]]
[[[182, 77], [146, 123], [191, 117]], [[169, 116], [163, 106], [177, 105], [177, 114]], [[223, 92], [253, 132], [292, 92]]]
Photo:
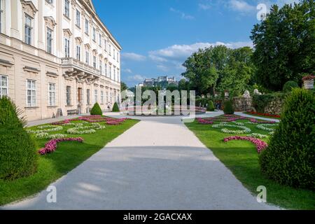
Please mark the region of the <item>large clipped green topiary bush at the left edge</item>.
[[8, 97], [0, 99], [0, 179], [14, 180], [34, 174], [38, 154], [24, 129], [25, 120]]

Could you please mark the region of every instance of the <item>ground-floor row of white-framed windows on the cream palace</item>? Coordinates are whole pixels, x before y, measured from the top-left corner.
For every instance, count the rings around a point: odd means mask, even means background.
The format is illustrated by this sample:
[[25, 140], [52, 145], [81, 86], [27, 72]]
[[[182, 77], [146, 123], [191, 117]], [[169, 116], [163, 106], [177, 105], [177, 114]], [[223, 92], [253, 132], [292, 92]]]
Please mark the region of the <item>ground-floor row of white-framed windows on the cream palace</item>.
[[[99, 102], [98, 90], [94, 90], [94, 103]], [[8, 76], [0, 76], [0, 97], [8, 95]], [[116, 94], [106, 92], [106, 102], [113, 103]], [[119, 96], [118, 96], [119, 98]], [[81, 98], [82, 99], [82, 98]], [[90, 105], [90, 89], [86, 90], [87, 105]], [[101, 90], [100, 103], [104, 104], [104, 90]], [[66, 86], [66, 105], [71, 106], [71, 86]], [[36, 106], [36, 80], [27, 80], [27, 107]], [[48, 106], [56, 106], [56, 84], [49, 83], [48, 87]]]

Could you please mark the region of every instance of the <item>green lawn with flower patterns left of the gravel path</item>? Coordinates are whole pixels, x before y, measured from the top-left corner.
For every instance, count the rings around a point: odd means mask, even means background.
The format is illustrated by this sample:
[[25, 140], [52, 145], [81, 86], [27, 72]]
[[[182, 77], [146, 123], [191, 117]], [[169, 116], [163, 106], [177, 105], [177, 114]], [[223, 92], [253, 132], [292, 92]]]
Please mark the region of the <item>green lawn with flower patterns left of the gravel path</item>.
[[[44, 190], [50, 183], [70, 172], [138, 122], [138, 120], [126, 120], [123, 125], [105, 125], [106, 129], [97, 130], [94, 134], [69, 134], [69, 137], [83, 137], [83, 144], [78, 142], [59, 143], [54, 153], [40, 156], [36, 174], [15, 181], [0, 180], [0, 205], [21, 200]], [[104, 125], [104, 123], [100, 124]], [[66, 134], [66, 130], [69, 128], [71, 127], [64, 127], [64, 130], [60, 132], [50, 133]], [[36, 127], [29, 129], [35, 130]], [[35, 139], [35, 141], [37, 151], [39, 148], [43, 148], [49, 140]]]

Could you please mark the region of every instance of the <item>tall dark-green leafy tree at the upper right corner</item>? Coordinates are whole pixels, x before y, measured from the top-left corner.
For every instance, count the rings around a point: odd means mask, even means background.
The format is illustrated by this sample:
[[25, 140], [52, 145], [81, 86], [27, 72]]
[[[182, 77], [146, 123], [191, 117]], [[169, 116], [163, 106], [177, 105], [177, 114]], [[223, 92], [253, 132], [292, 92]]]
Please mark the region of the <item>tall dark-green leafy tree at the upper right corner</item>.
[[272, 6], [266, 20], [253, 27], [253, 62], [260, 84], [281, 90], [288, 80], [301, 82], [315, 70], [314, 0]]

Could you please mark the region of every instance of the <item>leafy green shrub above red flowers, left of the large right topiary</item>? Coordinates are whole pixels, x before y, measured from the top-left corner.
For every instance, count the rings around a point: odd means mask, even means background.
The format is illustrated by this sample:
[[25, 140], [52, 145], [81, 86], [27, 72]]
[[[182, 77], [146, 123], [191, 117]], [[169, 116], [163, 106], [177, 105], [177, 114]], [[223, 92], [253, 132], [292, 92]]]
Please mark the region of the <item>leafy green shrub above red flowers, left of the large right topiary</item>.
[[254, 94], [253, 95], [253, 107], [258, 113], [265, 113], [265, 108], [269, 103], [280, 99], [282, 101], [286, 97], [286, 94], [281, 92], [269, 93], [269, 94]]

